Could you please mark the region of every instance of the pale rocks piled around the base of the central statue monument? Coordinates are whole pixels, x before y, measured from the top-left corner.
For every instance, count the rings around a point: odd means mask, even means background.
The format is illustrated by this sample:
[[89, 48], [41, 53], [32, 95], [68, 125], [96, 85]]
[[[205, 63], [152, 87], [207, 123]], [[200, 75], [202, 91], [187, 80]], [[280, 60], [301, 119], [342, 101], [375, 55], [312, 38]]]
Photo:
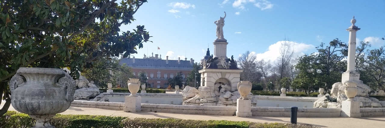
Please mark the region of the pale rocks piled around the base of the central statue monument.
[[[237, 99], [241, 97], [238, 91], [231, 92], [229, 85], [216, 84], [214, 90], [210, 87], [201, 86], [198, 89], [186, 86], [183, 89], [183, 105], [201, 106], [236, 106]], [[221, 89], [219, 89], [221, 87]], [[251, 100], [251, 107], [256, 107], [257, 100], [253, 99], [253, 94], [248, 97]]]

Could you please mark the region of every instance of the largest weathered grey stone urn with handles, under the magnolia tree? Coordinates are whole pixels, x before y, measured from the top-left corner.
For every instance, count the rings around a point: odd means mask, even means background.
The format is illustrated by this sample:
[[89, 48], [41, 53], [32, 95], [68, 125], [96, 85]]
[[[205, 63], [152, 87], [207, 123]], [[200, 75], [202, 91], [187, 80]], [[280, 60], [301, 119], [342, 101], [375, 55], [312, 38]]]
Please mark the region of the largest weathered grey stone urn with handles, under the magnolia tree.
[[50, 118], [70, 107], [76, 86], [63, 69], [21, 67], [9, 88], [13, 108], [36, 120], [32, 128], [55, 128]]

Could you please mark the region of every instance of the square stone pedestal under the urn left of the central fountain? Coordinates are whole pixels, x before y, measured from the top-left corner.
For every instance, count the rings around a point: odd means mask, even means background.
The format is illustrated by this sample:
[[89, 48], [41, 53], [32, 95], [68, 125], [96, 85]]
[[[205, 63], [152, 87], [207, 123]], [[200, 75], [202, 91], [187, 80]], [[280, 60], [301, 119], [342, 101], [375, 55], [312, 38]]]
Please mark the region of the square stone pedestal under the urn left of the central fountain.
[[142, 111], [142, 97], [126, 96], [124, 102], [124, 112], [140, 112]]

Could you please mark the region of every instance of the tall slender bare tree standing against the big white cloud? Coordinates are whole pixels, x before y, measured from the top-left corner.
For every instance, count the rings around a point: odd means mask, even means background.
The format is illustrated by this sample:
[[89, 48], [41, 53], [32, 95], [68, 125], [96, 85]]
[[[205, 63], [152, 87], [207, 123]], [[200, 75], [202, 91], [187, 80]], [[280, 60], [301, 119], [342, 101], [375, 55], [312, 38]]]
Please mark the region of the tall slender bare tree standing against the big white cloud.
[[[280, 47], [280, 56], [278, 57], [277, 61], [275, 62], [275, 65], [278, 67], [278, 73], [280, 75], [280, 79], [283, 77], [288, 76], [287, 69], [290, 68], [290, 62], [293, 59], [294, 54], [294, 48], [291, 48], [290, 41], [288, 39], [284, 39], [281, 41], [281, 47]], [[281, 88], [280, 84], [280, 88]]]

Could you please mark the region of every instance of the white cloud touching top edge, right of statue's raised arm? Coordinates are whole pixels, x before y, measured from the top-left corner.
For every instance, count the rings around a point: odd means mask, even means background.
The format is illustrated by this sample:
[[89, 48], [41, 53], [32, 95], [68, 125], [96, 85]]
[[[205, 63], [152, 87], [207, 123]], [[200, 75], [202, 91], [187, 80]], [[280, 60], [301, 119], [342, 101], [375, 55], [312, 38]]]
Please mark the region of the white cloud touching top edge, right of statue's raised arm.
[[259, 0], [259, 2], [256, 2], [255, 0], [236, 0], [233, 3], [233, 7], [244, 10], [246, 8], [245, 5], [248, 3], [253, 3], [255, 7], [258, 7], [261, 10], [271, 9], [274, 6], [267, 0]]

